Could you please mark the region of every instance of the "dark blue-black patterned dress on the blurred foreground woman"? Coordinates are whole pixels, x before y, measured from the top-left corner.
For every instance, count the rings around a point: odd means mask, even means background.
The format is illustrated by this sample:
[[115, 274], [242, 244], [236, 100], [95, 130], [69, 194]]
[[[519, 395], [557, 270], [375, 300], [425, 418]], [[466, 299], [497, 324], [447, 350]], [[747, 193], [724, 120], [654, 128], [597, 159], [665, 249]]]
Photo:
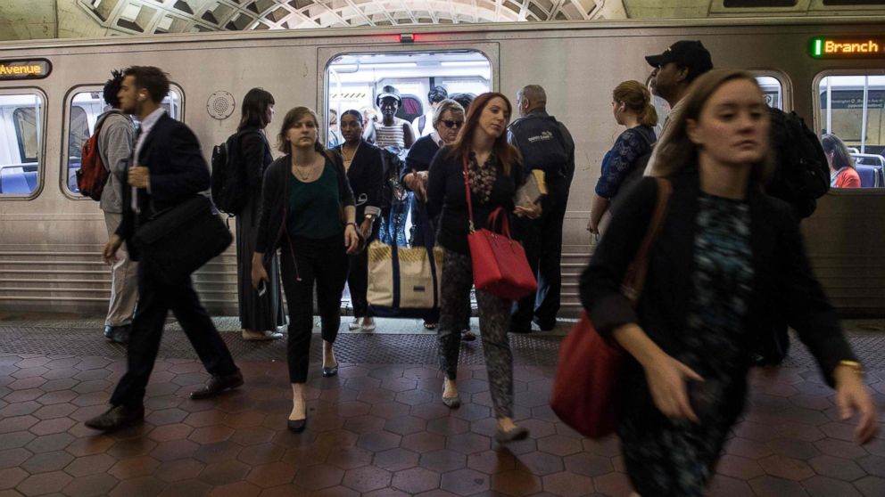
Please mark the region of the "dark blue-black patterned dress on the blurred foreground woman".
[[703, 495], [743, 409], [749, 368], [743, 320], [753, 281], [749, 205], [701, 193], [696, 223], [686, 330], [671, 352], [705, 379], [689, 384], [700, 423], [624, 413], [618, 434], [641, 495]]

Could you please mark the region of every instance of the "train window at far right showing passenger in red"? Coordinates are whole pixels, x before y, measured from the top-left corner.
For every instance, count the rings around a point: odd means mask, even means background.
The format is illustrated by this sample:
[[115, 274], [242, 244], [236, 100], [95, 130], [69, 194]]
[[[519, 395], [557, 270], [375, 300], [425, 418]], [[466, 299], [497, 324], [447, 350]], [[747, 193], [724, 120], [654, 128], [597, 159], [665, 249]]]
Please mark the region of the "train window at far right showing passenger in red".
[[[885, 76], [827, 74], [815, 85], [815, 116], [822, 135], [845, 144], [845, 153], [828, 153], [831, 185], [885, 188]], [[832, 137], [824, 141], [838, 143]], [[837, 163], [838, 162], [838, 163]]]

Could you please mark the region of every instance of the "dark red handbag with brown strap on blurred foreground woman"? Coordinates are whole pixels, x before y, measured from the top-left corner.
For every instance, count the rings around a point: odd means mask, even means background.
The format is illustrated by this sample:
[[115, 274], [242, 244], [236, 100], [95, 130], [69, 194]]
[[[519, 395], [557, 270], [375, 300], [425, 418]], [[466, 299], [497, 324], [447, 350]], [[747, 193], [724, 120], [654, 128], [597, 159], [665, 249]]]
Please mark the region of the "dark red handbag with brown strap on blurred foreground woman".
[[[649, 261], [649, 248], [658, 234], [670, 198], [670, 182], [658, 179], [658, 204], [640, 248], [624, 276], [622, 292], [639, 301]], [[584, 312], [581, 321], [559, 344], [559, 364], [550, 408], [575, 431], [590, 438], [602, 438], [615, 431], [617, 380], [624, 366], [624, 351], [611, 346], [593, 328]]]

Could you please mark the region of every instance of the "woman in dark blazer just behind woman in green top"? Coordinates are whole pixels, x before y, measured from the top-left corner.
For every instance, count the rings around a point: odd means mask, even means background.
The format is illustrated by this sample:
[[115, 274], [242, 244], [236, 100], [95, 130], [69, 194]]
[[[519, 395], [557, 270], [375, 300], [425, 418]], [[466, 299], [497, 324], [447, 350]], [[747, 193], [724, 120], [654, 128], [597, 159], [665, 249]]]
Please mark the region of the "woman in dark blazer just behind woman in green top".
[[[345, 110], [339, 119], [344, 143], [335, 147], [341, 153], [347, 179], [356, 200], [356, 222], [366, 243], [377, 236], [375, 220], [381, 214], [381, 192], [384, 187], [384, 164], [381, 149], [362, 137], [362, 115], [359, 110]], [[351, 330], [375, 330], [375, 322], [368, 314], [368, 250], [350, 257], [347, 286], [351, 290], [353, 322]]]

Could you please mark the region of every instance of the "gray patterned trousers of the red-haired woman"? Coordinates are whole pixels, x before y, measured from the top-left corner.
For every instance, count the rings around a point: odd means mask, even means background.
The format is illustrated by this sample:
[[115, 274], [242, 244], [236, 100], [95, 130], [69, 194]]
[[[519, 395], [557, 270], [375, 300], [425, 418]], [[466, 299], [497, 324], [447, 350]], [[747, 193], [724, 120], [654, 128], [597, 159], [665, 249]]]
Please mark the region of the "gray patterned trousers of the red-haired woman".
[[[446, 378], [454, 380], [458, 374], [458, 353], [461, 346], [461, 328], [468, 316], [470, 288], [473, 286], [473, 267], [470, 256], [443, 248], [443, 276], [440, 281], [440, 326], [438, 345], [440, 369]], [[476, 292], [479, 306], [479, 330], [483, 337], [485, 369], [492, 391], [495, 417], [513, 417], [513, 354], [507, 331], [510, 327], [509, 300], [484, 291]]]

